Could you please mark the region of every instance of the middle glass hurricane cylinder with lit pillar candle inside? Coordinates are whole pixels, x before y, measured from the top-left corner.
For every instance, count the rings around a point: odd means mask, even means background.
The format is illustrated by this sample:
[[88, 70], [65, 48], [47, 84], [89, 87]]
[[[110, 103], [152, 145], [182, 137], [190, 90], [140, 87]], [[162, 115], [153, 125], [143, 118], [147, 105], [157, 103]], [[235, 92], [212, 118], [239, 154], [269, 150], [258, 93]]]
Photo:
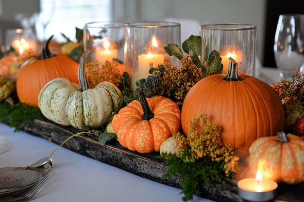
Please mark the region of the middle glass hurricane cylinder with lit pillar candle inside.
[[175, 22], [134, 22], [127, 26], [126, 70], [131, 75], [131, 90], [136, 80], [147, 78], [150, 65], [170, 62], [178, 65], [178, 59], [169, 56], [164, 47], [170, 43], [180, 46], [181, 26]]

